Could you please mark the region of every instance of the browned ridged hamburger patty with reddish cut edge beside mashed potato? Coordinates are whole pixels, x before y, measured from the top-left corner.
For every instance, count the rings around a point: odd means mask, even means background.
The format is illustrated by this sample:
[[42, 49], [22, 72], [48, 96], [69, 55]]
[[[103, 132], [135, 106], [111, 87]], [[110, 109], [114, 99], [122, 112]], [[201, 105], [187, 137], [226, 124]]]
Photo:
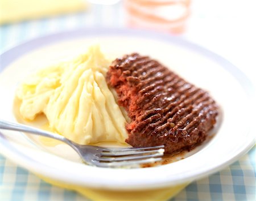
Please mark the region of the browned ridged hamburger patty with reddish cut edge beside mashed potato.
[[216, 123], [218, 107], [209, 94], [150, 57], [133, 53], [115, 59], [106, 80], [131, 118], [126, 142], [133, 147], [190, 150]]

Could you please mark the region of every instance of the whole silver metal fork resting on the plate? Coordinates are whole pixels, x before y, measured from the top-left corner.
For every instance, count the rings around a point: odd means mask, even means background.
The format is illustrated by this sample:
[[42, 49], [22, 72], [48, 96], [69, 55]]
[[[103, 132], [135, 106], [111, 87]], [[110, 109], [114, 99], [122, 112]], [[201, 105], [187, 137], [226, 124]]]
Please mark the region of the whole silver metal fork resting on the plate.
[[79, 153], [82, 161], [86, 164], [105, 168], [137, 167], [139, 164], [152, 163], [161, 160], [161, 156], [163, 156], [164, 153], [164, 146], [107, 148], [81, 145], [53, 132], [3, 120], [0, 120], [0, 129], [29, 132], [31, 134], [60, 140], [75, 149], [75, 151]]

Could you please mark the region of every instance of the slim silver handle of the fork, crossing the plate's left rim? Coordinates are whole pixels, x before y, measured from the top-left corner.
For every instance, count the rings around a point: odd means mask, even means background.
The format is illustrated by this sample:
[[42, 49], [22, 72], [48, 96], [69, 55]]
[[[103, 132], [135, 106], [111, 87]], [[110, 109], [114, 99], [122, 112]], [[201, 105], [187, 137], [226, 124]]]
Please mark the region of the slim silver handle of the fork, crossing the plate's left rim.
[[64, 138], [64, 136], [55, 134], [53, 132], [36, 129], [35, 127], [22, 125], [20, 123], [8, 122], [8, 121], [2, 120], [2, 119], [0, 119], [0, 129], [29, 132], [31, 134], [41, 135], [41, 136], [45, 136], [47, 138], [53, 138], [56, 140], [60, 140], [64, 143], [68, 143], [69, 145], [71, 144], [71, 141], [69, 139]]

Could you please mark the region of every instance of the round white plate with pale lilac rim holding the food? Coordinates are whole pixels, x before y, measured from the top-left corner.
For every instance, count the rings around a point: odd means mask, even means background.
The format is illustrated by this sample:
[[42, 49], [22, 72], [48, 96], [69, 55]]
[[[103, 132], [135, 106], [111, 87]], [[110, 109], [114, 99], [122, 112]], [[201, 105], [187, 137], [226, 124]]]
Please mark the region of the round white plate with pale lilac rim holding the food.
[[[246, 76], [224, 58], [177, 37], [125, 29], [59, 33], [16, 46], [2, 54], [0, 117], [15, 121], [13, 99], [18, 82], [39, 67], [72, 58], [97, 41], [111, 58], [138, 52], [158, 59], [180, 76], [207, 89], [222, 109], [216, 135], [192, 156], [154, 168], [106, 169], [81, 164], [67, 146], [47, 148], [26, 135], [1, 130], [1, 152], [44, 177], [101, 189], [138, 190], [177, 185], [214, 173], [254, 144], [253, 93]], [[74, 157], [73, 157], [74, 156]]]

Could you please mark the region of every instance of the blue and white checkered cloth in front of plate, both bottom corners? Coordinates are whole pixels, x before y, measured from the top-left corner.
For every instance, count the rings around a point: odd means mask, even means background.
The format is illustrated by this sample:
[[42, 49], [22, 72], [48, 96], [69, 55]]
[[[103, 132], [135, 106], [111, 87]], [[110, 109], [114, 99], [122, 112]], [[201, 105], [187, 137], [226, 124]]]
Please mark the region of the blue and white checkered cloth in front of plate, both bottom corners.
[[[1, 200], [89, 200], [49, 185], [4, 157], [0, 164]], [[179, 200], [255, 200], [255, 147], [228, 168], [191, 183], [171, 199]]]

